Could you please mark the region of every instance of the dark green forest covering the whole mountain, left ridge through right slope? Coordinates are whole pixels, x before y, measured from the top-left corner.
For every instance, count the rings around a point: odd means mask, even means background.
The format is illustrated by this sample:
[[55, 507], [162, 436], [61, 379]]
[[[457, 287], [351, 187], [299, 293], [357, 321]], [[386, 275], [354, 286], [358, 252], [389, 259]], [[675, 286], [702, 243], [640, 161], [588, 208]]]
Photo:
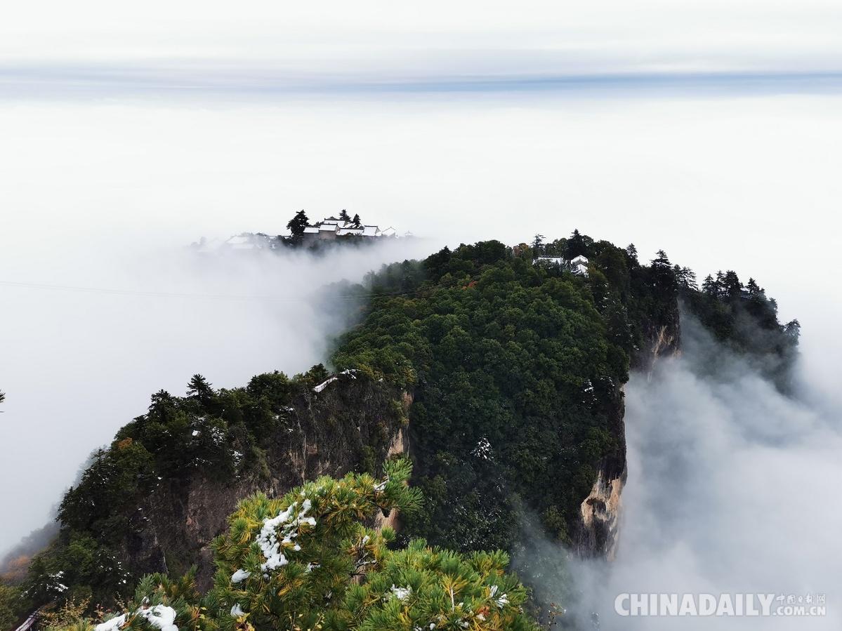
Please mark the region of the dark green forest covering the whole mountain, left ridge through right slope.
[[[588, 273], [536, 264], [538, 255], [587, 257]], [[774, 300], [753, 279], [743, 286], [735, 273], [720, 273], [699, 288], [664, 252], [640, 262], [633, 246], [578, 231], [517, 247], [445, 248], [371, 273], [355, 291], [366, 300], [336, 341], [331, 368], [412, 400], [408, 411], [388, 397], [381, 406], [395, 427], [408, 412], [412, 482], [424, 496], [402, 514], [390, 545], [459, 563], [479, 557], [458, 554], [516, 552], [525, 516], [560, 543], [575, 543], [579, 506], [597, 472], [625, 468], [622, 385], [633, 367], [647, 369], [653, 347], [678, 347], [679, 304], [735, 351], [774, 359], [768, 365], [781, 384], [797, 347], [797, 322], [781, 326]], [[138, 499], [198, 475], [259, 486], [273, 444], [293, 431], [292, 406], [309, 405], [328, 376], [319, 365], [216, 390], [196, 375], [185, 396], [152, 395], [148, 411], [95, 453], [67, 492], [59, 536], [32, 560], [29, 578], [0, 586], [0, 617], [45, 602], [131, 595], [139, 575], [120, 550], [131, 544]], [[373, 447], [384, 449], [389, 436], [385, 425], [374, 432], [370, 448], [351, 454], [351, 469], [374, 473]], [[453, 552], [424, 552], [409, 543], [416, 538]]]

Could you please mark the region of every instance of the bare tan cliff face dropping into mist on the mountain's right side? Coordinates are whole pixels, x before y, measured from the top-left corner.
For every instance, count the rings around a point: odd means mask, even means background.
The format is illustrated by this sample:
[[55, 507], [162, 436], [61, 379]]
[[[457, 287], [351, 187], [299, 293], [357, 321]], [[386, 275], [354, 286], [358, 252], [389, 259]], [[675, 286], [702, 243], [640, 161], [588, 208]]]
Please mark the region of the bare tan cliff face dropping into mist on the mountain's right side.
[[[659, 358], [679, 353], [678, 302], [674, 303], [674, 309], [666, 310], [664, 317], [647, 321], [642, 328], [646, 343], [632, 358], [632, 367], [650, 374]], [[617, 389], [613, 409], [607, 414], [618, 447], [600, 463], [594, 486], [582, 501], [580, 521], [575, 529], [575, 549], [582, 556], [613, 560], [620, 536], [621, 493], [627, 475], [625, 403], [621, 388]]]

